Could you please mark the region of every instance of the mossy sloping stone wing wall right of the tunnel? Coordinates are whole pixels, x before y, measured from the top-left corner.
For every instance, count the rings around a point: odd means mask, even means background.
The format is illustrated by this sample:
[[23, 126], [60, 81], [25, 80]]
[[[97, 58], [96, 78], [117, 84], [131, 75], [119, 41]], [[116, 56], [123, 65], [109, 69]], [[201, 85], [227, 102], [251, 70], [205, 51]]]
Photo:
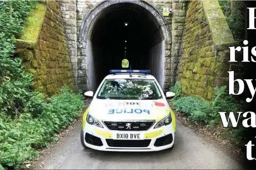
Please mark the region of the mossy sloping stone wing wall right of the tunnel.
[[[235, 45], [217, 1], [190, 1], [183, 33], [178, 78], [185, 95], [212, 98], [228, 84], [228, 46]], [[241, 67], [236, 65], [235, 67]]]

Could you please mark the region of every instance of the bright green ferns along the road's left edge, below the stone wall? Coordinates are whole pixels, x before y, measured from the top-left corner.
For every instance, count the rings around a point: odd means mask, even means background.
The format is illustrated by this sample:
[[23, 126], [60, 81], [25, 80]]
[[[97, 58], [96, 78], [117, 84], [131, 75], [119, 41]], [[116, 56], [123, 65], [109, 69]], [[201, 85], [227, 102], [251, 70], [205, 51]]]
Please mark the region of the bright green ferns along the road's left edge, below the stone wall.
[[37, 118], [24, 112], [11, 122], [0, 119], [0, 163], [15, 169], [22, 168], [24, 163], [39, 156], [35, 149], [57, 140], [55, 133], [79, 116], [83, 105], [83, 96], [63, 87], [61, 94], [53, 96], [50, 103], [41, 105], [43, 111]]

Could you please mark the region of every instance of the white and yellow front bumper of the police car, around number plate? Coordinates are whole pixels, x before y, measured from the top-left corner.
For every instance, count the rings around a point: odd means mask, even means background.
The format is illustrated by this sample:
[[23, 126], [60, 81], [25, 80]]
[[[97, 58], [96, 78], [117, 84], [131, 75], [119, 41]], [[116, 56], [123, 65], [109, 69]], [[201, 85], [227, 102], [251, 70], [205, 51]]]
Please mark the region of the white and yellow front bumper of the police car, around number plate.
[[[174, 145], [175, 130], [172, 123], [154, 129], [156, 123], [146, 131], [121, 131], [110, 130], [105, 125], [104, 128], [96, 127], [86, 123], [83, 129], [84, 144], [91, 149], [100, 151], [129, 151], [129, 152], [149, 152], [165, 150]], [[144, 135], [143, 140], [118, 140], [113, 139], [115, 133], [140, 133]]]

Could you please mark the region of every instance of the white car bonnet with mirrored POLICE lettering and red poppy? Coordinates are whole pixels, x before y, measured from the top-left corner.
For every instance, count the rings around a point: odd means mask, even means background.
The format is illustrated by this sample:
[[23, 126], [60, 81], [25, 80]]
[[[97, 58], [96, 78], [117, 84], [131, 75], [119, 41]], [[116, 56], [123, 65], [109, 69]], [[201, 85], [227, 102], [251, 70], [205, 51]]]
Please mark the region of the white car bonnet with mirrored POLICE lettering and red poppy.
[[156, 122], [170, 113], [166, 100], [100, 100], [92, 101], [89, 114], [97, 120], [149, 120]]

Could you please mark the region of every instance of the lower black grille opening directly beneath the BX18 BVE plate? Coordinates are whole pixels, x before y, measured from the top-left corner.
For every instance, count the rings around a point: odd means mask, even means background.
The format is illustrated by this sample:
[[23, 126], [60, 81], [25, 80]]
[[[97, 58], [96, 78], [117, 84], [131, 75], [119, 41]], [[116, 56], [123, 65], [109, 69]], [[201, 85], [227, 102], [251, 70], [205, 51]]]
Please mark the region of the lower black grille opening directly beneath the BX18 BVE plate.
[[110, 147], [148, 147], [151, 139], [145, 140], [115, 140], [106, 139], [107, 145]]

